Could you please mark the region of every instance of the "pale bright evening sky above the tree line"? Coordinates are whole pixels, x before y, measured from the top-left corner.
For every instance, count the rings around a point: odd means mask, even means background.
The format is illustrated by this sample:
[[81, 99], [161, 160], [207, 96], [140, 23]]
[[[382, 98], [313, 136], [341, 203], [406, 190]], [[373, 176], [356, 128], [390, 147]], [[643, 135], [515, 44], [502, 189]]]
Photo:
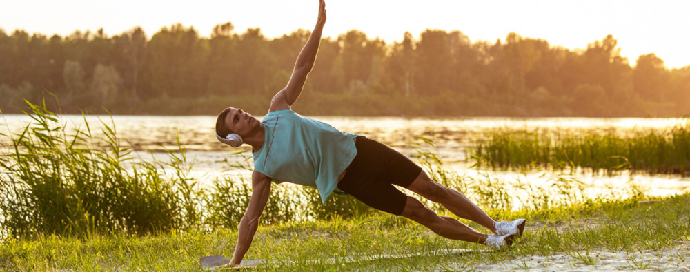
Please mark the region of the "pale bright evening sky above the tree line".
[[[175, 23], [209, 36], [228, 21], [235, 32], [261, 28], [275, 38], [313, 29], [318, 0], [0, 0], [0, 28], [7, 34], [67, 36], [103, 28], [110, 36], [141, 26], [148, 37]], [[460, 30], [471, 41], [504, 41], [510, 32], [551, 45], [584, 49], [607, 34], [635, 65], [655, 53], [669, 68], [690, 65], [690, 1], [685, 0], [327, 0], [324, 36], [361, 30], [369, 38], [400, 41], [427, 28]]]

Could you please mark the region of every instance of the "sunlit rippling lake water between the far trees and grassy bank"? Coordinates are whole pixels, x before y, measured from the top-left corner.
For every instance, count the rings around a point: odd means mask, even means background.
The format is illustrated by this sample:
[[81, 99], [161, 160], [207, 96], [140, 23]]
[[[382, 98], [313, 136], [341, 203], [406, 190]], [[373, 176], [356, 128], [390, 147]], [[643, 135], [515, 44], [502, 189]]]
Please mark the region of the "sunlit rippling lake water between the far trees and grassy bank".
[[[482, 134], [495, 129], [527, 129], [559, 133], [604, 132], [615, 130], [620, 134], [649, 129], [667, 129], [685, 122], [680, 118], [402, 118], [402, 117], [319, 117], [337, 129], [360, 134], [390, 145], [402, 154], [416, 154], [422, 140], [417, 136], [433, 138], [437, 144], [432, 149], [447, 167], [469, 178], [491, 176], [506, 182], [528, 182], [535, 187], [549, 187], [553, 176], [548, 171], [515, 173], [471, 169], [466, 159], [466, 148]], [[70, 128], [85, 129], [82, 116], [61, 116], [61, 123]], [[248, 151], [248, 147], [233, 149], [215, 139], [215, 116], [87, 116], [94, 134], [103, 125], [115, 124], [117, 136], [128, 141], [135, 149], [135, 156], [144, 160], [166, 160], [166, 149], [177, 149], [177, 137], [186, 147], [188, 160], [193, 161], [193, 176], [208, 182], [217, 176], [233, 175], [247, 178], [249, 171], [228, 169], [228, 161], [243, 160], [234, 151]], [[261, 119], [261, 117], [257, 117]], [[6, 114], [0, 118], [0, 133], [20, 132], [31, 119], [26, 115]], [[7, 147], [7, 138], [3, 137]], [[422, 145], [422, 147], [426, 147]], [[245, 153], [250, 156], [250, 153]], [[251, 163], [251, 159], [248, 160]], [[551, 177], [549, 177], [551, 176]], [[600, 176], [575, 174], [586, 185], [588, 196], [611, 195], [626, 191], [631, 185], [640, 187], [654, 196], [667, 196], [690, 189], [690, 178], [679, 176], [647, 176], [629, 174]], [[551, 182], [551, 183], [550, 183]]]

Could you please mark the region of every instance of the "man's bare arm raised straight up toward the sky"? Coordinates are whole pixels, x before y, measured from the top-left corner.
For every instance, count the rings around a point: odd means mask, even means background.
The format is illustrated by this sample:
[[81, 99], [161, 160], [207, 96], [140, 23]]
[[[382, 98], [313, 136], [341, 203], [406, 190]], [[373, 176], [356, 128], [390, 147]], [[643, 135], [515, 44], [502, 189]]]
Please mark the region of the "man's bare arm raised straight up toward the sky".
[[314, 67], [314, 62], [316, 61], [319, 43], [321, 43], [321, 32], [324, 30], [325, 23], [326, 2], [325, 0], [319, 0], [319, 18], [317, 19], [316, 27], [314, 31], [311, 32], [311, 36], [309, 36], [309, 40], [304, 45], [304, 48], [302, 48], [302, 52], [299, 52], [299, 56], [297, 56], [295, 68], [293, 69], [292, 76], [290, 76], [288, 85], [275, 94], [273, 100], [270, 101], [269, 112], [290, 109], [299, 97], [299, 94], [302, 93], [302, 88], [306, 82], [306, 76], [311, 72], [311, 69]]

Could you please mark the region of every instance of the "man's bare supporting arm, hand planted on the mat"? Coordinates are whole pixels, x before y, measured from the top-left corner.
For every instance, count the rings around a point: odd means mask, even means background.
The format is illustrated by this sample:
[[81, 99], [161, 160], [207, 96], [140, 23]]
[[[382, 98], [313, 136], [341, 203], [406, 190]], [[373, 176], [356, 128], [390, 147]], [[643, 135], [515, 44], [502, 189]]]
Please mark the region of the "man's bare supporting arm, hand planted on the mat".
[[247, 211], [244, 212], [242, 220], [239, 221], [237, 230], [237, 247], [233, 254], [233, 264], [239, 265], [244, 258], [244, 254], [249, 250], [249, 246], [254, 239], [254, 233], [259, 227], [259, 217], [266, 207], [268, 196], [270, 195], [270, 178], [257, 171], [252, 173], [252, 197], [249, 199]]

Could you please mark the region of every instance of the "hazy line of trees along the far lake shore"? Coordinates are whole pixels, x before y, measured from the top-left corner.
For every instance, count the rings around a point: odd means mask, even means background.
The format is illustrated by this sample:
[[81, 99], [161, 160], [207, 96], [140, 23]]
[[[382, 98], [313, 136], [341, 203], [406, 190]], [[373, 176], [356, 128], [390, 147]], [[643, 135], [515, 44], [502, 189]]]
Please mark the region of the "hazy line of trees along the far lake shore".
[[[0, 110], [55, 96], [63, 113], [256, 114], [290, 78], [308, 30], [267, 39], [259, 28], [216, 25], [210, 37], [176, 24], [45, 36], [0, 29]], [[351, 30], [322, 39], [295, 110], [318, 115], [684, 116], [690, 66], [655, 54], [635, 65], [612, 35], [584, 50], [510, 33], [475, 41], [460, 31], [404, 33], [386, 43]], [[59, 104], [59, 105], [58, 105]]]

